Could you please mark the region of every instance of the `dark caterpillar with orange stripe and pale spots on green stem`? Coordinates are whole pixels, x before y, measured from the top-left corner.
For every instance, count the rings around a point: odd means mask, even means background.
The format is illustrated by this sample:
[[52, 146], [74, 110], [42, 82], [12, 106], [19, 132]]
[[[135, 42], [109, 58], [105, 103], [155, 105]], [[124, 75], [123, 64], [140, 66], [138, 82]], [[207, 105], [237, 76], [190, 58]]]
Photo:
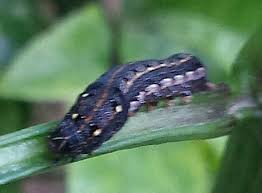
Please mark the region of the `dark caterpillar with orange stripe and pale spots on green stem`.
[[205, 67], [190, 54], [116, 66], [79, 95], [51, 133], [50, 147], [61, 155], [90, 154], [143, 104], [209, 88]]

